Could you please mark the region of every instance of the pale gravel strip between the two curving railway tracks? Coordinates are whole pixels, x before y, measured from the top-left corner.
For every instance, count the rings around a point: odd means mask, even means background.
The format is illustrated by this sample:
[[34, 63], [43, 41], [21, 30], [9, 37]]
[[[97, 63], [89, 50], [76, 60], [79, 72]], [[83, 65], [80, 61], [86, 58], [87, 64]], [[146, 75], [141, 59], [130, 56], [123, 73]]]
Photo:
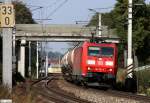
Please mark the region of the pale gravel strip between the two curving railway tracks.
[[130, 98], [107, 95], [107, 91], [103, 90], [96, 91], [92, 89], [84, 89], [74, 84], [70, 84], [64, 80], [58, 81], [58, 86], [61, 89], [69, 93], [73, 93], [75, 96], [88, 100], [92, 103], [144, 103], [142, 101], [136, 101]]

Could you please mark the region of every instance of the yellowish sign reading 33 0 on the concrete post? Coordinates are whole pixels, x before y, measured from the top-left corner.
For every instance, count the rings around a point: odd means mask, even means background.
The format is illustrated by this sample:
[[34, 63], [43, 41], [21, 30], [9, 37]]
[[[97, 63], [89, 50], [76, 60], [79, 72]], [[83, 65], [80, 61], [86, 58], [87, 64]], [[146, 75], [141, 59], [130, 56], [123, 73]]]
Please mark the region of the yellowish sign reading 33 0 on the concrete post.
[[0, 5], [0, 27], [14, 27], [15, 26], [15, 15], [14, 6], [12, 4], [1, 4]]

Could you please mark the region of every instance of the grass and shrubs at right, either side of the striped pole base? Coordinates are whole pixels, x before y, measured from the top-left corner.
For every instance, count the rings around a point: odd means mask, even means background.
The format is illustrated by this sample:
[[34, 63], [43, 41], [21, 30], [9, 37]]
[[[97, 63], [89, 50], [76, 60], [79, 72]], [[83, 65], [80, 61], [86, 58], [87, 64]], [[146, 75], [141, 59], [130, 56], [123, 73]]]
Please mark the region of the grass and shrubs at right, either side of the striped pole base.
[[[150, 68], [135, 73], [137, 77], [138, 93], [150, 96]], [[117, 88], [123, 89], [125, 86], [126, 72], [125, 69], [118, 69]]]

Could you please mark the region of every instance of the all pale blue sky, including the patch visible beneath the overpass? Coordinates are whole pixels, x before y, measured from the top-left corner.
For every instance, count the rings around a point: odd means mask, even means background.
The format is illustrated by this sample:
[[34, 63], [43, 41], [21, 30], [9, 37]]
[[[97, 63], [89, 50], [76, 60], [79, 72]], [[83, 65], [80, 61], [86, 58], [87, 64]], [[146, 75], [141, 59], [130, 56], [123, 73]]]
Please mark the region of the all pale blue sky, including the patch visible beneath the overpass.
[[[51, 19], [38, 21], [44, 24], [75, 24], [76, 21], [89, 21], [94, 15], [88, 9], [95, 9], [98, 12], [109, 12], [116, 3], [116, 0], [23, 0], [30, 8], [34, 19]], [[146, 0], [147, 3], [150, 0]], [[42, 9], [38, 9], [42, 7]], [[96, 9], [109, 8], [109, 9]], [[49, 42], [52, 51], [64, 53], [68, 48], [66, 43]], [[57, 47], [57, 48], [56, 48]]]

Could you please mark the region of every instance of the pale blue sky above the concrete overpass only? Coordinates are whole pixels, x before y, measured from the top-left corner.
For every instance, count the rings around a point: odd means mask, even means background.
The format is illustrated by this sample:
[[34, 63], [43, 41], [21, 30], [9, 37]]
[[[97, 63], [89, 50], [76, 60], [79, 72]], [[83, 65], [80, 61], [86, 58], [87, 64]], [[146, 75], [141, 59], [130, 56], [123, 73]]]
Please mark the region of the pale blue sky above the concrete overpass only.
[[[67, 1], [60, 9], [53, 15], [49, 16], [61, 3]], [[93, 13], [89, 8], [106, 8], [112, 7], [116, 3], [115, 0], [26, 0], [27, 5], [42, 6], [43, 9], [33, 11], [33, 17], [49, 18], [50, 21], [44, 23], [52, 24], [74, 24], [75, 21], [88, 21]], [[31, 8], [33, 10], [34, 8]], [[30, 6], [31, 7], [31, 6]], [[40, 13], [42, 11], [42, 13]], [[102, 10], [109, 11], [109, 10]], [[41, 17], [42, 15], [42, 17]]]

